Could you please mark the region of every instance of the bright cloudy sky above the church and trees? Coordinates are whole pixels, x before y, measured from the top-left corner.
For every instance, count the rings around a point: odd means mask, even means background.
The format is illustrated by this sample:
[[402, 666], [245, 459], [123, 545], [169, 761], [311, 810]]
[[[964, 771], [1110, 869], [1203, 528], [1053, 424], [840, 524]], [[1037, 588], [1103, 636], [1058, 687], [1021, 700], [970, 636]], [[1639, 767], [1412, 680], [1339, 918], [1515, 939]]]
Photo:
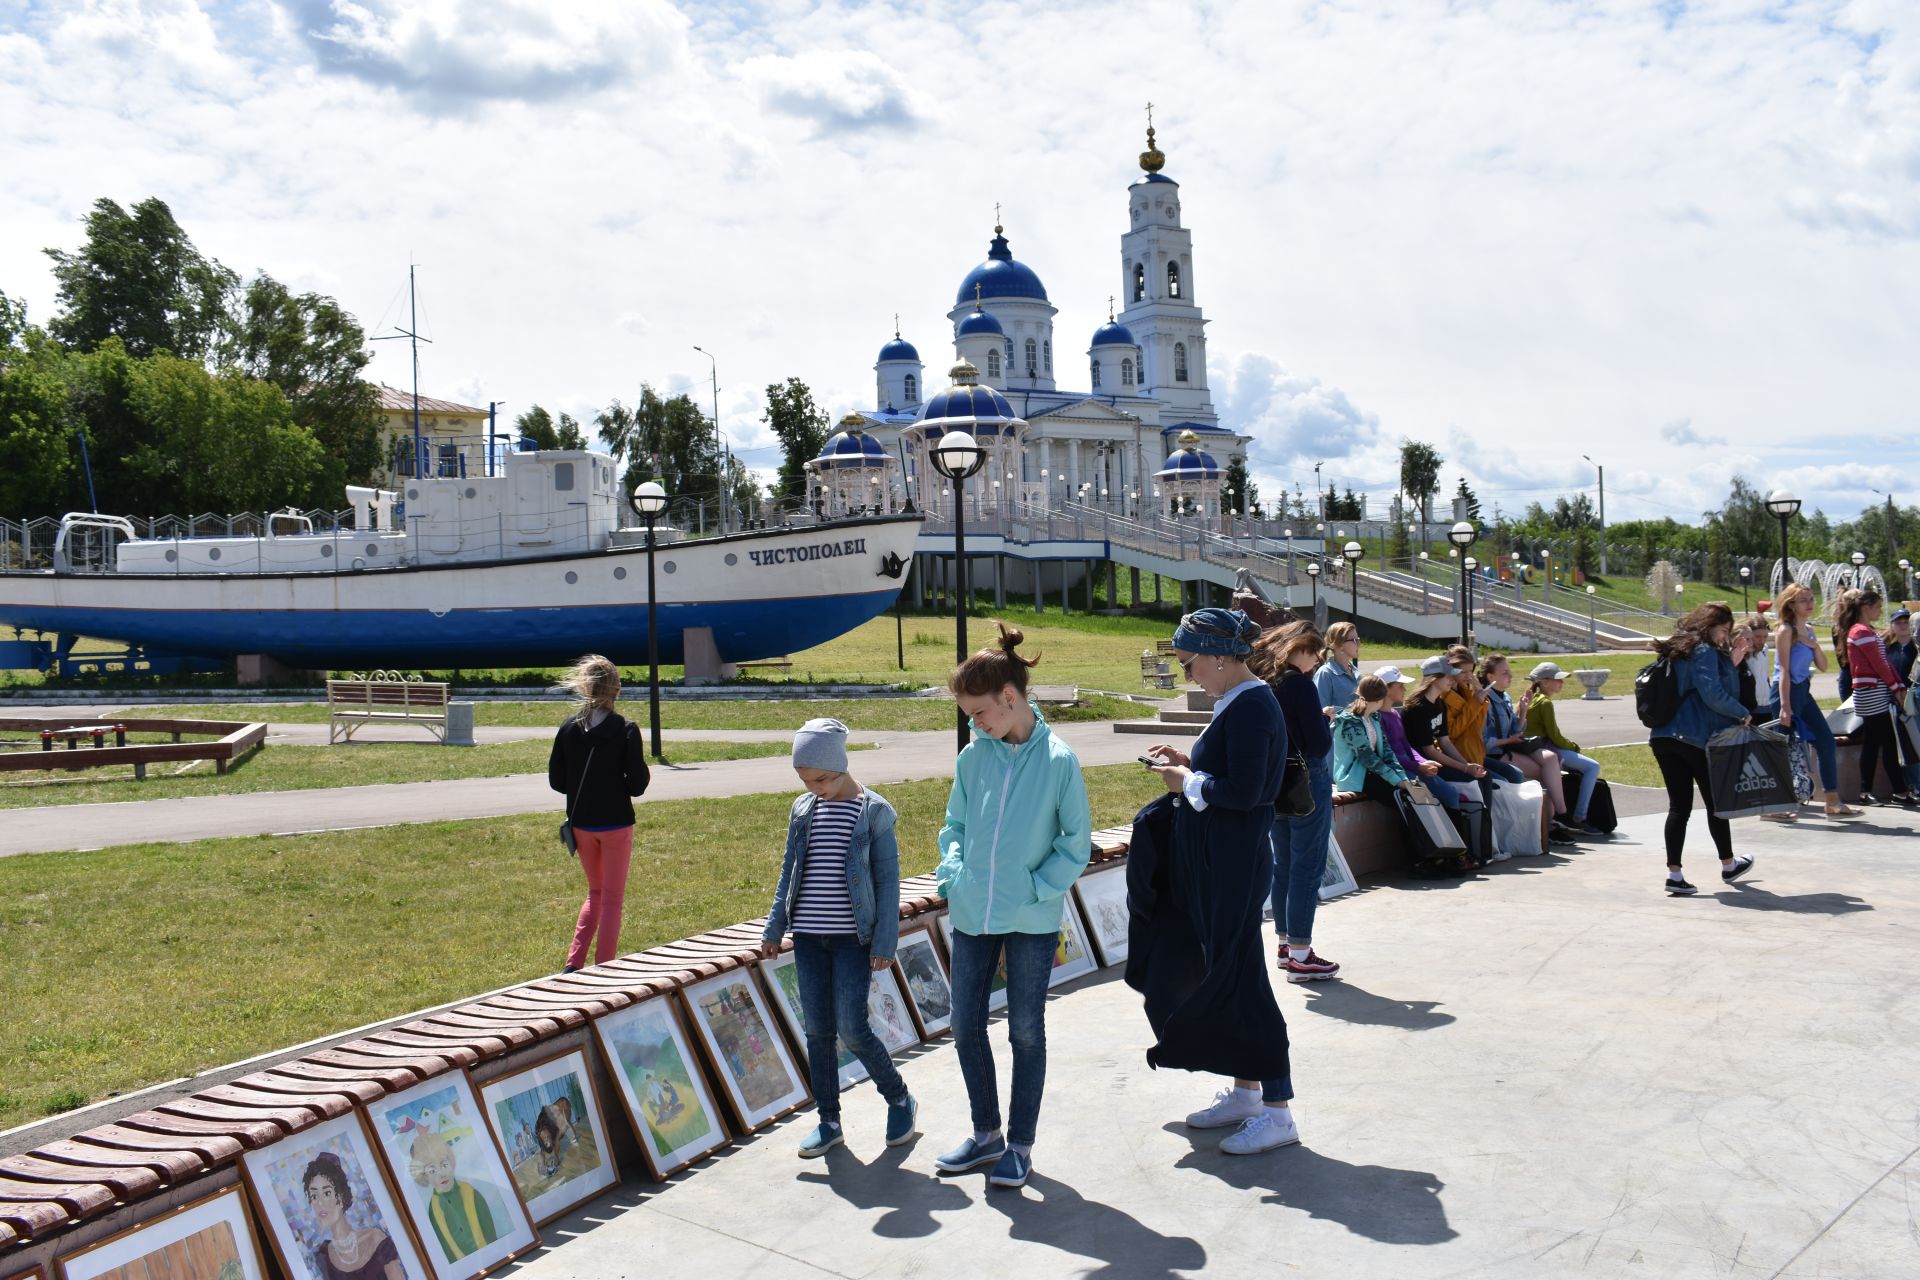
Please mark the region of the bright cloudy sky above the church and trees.
[[1085, 386], [1148, 102], [1263, 493], [1920, 503], [1910, 0], [0, 0], [0, 292], [159, 196], [369, 334], [417, 263], [422, 393], [707, 405], [701, 345], [770, 470], [766, 384], [872, 407], [895, 315], [941, 378], [996, 203]]

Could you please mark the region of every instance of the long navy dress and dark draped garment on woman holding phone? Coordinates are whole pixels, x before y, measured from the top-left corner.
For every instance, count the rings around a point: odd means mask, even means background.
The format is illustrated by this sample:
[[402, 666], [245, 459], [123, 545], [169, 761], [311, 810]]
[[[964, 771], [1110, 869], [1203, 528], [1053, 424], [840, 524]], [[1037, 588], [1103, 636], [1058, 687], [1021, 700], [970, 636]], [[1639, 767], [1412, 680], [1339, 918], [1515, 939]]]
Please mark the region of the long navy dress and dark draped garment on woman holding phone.
[[1242, 1080], [1292, 1075], [1267, 979], [1260, 908], [1273, 885], [1273, 798], [1286, 722], [1267, 685], [1244, 687], [1194, 743], [1206, 810], [1181, 796], [1135, 819], [1127, 984], [1146, 996], [1152, 1067]]

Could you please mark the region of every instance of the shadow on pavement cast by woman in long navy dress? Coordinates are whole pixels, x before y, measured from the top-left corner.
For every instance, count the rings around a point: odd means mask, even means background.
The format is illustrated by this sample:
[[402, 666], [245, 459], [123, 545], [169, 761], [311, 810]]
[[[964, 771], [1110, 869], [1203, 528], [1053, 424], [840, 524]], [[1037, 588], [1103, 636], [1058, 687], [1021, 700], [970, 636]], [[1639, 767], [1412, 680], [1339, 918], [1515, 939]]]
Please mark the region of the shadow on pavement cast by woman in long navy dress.
[[1338, 1222], [1356, 1236], [1380, 1244], [1446, 1244], [1459, 1236], [1446, 1221], [1436, 1174], [1386, 1165], [1348, 1165], [1306, 1146], [1261, 1155], [1225, 1155], [1223, 1130], [1164, 1126], [1194, 1144], [1179, 1169], [1198, 1169], [1244, 1192], [1267, 1192], [1261, 1203], [1298, 1209], [1313, 1219]]

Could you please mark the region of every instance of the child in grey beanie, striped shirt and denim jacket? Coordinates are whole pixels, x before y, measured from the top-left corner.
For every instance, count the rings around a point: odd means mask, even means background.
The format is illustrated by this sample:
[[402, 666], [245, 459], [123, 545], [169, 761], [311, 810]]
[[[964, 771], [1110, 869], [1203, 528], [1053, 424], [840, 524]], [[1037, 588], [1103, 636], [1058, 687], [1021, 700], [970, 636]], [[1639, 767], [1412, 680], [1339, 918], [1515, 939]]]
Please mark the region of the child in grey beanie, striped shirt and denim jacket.
[[868, 1021], [874, 973], [893, 963], [900, 936], [900, 848], [893, 806], [847, 770], [847, 725], [808, 720], [793, 735], [793, 771], [804, 793], [787, 814], [787, 858], [760, 938], [760, 956], [780, 954], [793, 933], [806, 1021], [806, 1071], [820, 1125], [801, 1142], [803, 1157], [843, 1142], [835, 1036], [860, 1059], [887, 1100], [887, 1146], [914, 1136], [920, 1103]]

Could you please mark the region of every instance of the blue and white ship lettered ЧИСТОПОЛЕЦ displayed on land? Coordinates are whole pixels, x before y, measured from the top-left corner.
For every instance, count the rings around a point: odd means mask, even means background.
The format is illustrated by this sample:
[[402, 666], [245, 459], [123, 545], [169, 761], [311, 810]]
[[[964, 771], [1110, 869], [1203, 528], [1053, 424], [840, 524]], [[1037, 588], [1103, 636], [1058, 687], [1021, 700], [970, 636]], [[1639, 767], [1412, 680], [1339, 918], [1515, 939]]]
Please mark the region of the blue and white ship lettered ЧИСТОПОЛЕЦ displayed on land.
[[[129, 520], [69, 514], [50, 568], [0, 572], [0, 624], [298, 668], [645, 662], [647, 532], [614, 461], [543, 449], [503, 462], [349, 487], [353, 520], [336, 530], [286, 512], [263, 537], [134, 537]], [[707, 637], [697, 654], [751, 662], [851, 631], [893, 604], [920, 522], [803, 516], [714, 537], [660, 526], [660, 662]]]

